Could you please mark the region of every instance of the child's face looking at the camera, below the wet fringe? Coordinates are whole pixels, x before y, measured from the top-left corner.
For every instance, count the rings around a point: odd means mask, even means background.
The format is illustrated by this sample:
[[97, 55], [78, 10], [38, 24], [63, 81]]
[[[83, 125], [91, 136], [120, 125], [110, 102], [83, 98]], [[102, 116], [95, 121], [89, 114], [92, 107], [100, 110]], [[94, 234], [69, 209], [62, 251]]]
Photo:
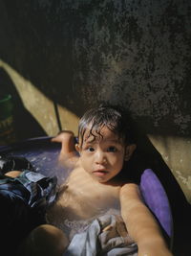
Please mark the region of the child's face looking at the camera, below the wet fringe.
[[83, 144], [79, 139], [78, 151], [80, 153], [81, 165], [84, 170], [92, 175], [98, 182], [107, 182], [116, 176], [122, 169], [126, 147], [118, 139], [117, 134], [109, 128], [103, 127], [100, 130], [102, 135], [89, 136], [87, 129]]

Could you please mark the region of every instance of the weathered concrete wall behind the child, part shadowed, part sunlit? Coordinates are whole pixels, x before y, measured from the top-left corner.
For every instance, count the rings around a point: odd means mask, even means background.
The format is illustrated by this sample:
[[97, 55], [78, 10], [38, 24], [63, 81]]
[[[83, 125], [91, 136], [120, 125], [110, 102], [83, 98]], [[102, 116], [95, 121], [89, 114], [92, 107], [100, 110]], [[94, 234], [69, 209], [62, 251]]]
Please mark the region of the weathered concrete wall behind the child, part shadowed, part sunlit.
[[0, 0], [0, 86], [30, 120], [16, 116], [18, 137], [55, 134], [53, 103], [74, 132], [99, 101], [123, 105], [140, 149], [191, 201], [190, 10], [189, 0]]

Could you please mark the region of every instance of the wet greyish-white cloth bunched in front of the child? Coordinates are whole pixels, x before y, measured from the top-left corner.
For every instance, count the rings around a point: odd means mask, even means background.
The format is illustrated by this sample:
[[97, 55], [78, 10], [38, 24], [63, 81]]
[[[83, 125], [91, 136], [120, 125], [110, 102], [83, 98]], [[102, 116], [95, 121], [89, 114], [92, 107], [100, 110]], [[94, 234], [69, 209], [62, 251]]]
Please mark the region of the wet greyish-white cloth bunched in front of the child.
[[74, 235], [63, 256], [138, 255], [138, 246], [130, 238], [125, 224], [117, 215], [104, 215], [86, 231]]

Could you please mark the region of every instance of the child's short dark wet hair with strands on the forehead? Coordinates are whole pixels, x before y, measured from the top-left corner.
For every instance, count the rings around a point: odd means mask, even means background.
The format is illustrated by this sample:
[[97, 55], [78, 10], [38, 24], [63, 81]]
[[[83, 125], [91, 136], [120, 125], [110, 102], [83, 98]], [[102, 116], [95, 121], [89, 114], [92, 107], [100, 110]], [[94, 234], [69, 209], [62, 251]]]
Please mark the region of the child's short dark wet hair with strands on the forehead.
[[117, 106], [100, 105], [89, 109], [79, 121], [78, 138], [83, 144], [84, 134], [89, 129], [88, 137], [102, 137], [101, 129], [109, 128], [118, 139], [121, 139], [125, 145], [134, 143], [133, 135], [130, 130], [130, 124], [125, 111]]

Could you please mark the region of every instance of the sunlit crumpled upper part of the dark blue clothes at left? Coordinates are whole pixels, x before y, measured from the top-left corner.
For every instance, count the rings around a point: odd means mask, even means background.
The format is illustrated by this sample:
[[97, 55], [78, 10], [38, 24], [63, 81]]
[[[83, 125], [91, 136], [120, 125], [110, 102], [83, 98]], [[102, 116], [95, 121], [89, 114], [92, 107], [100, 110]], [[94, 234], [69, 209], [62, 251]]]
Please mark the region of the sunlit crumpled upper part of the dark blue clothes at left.
[[30, 207], [48, 206], [56, 196], [57, 178], [24, 171], [18, 177], [0, 177], [0, 194], [21, 198]]

